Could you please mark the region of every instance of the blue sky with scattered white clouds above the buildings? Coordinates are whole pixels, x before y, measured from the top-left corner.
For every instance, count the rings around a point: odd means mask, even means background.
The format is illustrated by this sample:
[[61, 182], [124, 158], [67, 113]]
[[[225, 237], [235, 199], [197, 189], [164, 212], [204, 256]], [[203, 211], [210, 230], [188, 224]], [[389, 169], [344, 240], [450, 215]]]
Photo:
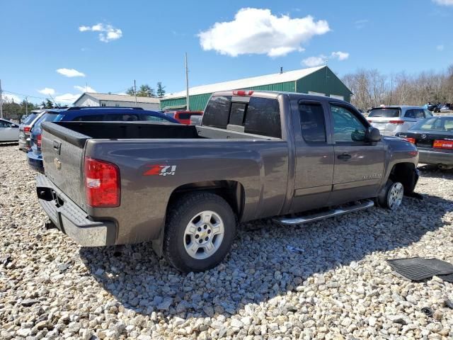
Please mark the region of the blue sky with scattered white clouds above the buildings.
[[4, 96], [72, 103], [134, 84], [167, 94], [327, 62], [339, 77], [453, 64], [453, 0], [1, 1]]

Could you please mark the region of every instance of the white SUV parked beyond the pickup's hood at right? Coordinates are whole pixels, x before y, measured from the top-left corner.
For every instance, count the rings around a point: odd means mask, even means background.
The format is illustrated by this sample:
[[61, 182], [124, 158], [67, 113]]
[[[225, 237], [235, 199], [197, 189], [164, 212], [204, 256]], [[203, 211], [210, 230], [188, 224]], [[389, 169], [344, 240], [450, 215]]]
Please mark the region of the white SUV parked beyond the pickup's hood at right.
[[419, 120], [432, 117], [432, 113], [421, 106], [380, 106], [372, 108], [367, 117], [381, 135], [395, 135], [407, 132]]

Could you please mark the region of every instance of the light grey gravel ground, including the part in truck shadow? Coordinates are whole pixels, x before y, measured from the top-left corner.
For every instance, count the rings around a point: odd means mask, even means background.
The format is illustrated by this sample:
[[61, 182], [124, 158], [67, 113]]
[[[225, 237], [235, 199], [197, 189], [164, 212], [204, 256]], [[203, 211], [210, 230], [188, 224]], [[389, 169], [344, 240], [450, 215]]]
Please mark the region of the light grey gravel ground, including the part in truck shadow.
[[453, 285], [408, 282], [385, 262], [453, 263], [451, 171], [423, 169], [425, 199], [397, 212], [243, 225], [222, 264], [187, 276], [150, 244], [83, 249], [46, 231], [34, 177], [17, 146], [0, 147], [1, 339], [453, 338]]

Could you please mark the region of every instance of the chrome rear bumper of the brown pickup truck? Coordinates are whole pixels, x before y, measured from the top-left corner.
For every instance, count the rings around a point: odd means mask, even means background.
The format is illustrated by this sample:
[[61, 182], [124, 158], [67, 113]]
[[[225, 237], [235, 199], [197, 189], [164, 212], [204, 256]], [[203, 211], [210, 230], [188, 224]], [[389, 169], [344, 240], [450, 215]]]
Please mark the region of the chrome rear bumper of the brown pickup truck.
[[92, 221], [45, 175], [38, 175], [36, 192], [42, 209], [57, 228], [81, 246], [115, 244], [116, 225], [112, 221]]

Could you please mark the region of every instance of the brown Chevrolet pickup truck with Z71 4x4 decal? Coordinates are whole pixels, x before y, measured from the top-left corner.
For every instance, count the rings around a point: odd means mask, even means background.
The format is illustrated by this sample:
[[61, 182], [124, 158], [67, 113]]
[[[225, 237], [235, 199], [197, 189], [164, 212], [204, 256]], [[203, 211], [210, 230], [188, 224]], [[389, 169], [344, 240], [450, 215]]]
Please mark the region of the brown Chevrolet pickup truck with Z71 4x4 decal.
[[238, 222], [300, 225], [375, 202], [396, 209], [418, 180], [414, 145], [383, 138], [328, 97], [224, 91], [200, 126], [42, 128], [37, 192], [53, 224], [82, 246], [152, 241], [180, 271], [222, 261]]

